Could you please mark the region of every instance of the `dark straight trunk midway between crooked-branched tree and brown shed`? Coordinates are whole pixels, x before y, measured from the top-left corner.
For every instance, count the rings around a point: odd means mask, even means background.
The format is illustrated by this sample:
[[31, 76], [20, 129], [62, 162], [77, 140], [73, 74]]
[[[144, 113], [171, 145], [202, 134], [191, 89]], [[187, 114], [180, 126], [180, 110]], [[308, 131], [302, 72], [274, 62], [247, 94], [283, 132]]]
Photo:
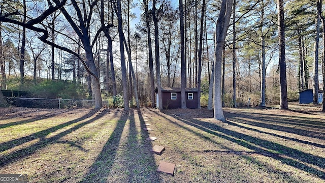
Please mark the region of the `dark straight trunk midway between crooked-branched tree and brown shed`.
[[120, 54], [121, 54], [121, 72], [122, 72], [122, 88], [123, 88], [123, 101], [124, 110], [129, 110], [128, 95], [127, 95], [127, 82], [126, 82], [126, 67], [125, 67], [125, 55], [124, 55], [124, 35], [122, 25], [122, 10], [121, 1], [117, 1], [117, 19], [118, 19], [118, 35], [120, 42]]

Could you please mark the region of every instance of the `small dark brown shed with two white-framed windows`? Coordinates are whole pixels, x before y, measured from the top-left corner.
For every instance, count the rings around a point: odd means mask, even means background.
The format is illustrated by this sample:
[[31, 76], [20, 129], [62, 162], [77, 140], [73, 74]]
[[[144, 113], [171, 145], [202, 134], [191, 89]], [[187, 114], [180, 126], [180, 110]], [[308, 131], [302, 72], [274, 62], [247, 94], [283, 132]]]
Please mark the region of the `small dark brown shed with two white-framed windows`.
[[[156, 93], [156, 106], [158, 106], [158, 89]], [[185, 88], [186, 107], [190, 109], [198, 108], [198, 89]], [[177, 109], [181, 108], [181, 88], [161, 86], [161, 97], [163, 99], [164, 109]]]

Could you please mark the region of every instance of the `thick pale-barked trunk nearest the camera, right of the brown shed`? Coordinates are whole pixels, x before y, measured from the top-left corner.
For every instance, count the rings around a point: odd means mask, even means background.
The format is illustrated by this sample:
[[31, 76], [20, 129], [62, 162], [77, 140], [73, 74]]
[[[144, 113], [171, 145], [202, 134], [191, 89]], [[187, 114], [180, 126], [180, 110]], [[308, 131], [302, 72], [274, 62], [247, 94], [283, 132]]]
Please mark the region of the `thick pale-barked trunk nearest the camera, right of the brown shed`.
[[216, 39], [215, 39], [215, 53], [214, 53], [214, 92], [213, 92], [213, 106], [214, 119], [224, 120], [222, 111], [221, 98], [221, 64], [222, 64], [222, 50], [225, 43], [225, 36], [229, 28], [229, 21], [232, 14], [232, 0], [222, 0], [220, 13], [216, 24]]

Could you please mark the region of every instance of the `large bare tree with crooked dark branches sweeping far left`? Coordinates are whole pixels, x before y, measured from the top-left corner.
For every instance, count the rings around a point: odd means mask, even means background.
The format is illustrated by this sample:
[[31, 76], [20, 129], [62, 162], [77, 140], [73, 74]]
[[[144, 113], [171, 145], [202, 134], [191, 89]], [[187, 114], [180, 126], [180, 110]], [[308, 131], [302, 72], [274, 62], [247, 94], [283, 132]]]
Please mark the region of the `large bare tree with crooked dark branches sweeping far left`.
[[[26, 27], [28, 29], [31, 29], [32, 31], [42, 33], [43, 35], [40, 37], [40, 39], [44, 43], [47, 43], [51, 46], [55, 46], [56, 48], [62, 51], [67, 51], [77, 56], [80, 60], [82, 60], [85, 69], [92, 77], [92, 90], [94, 92], [95, 108], [96, 109], [101, 108], [103, 106], [103, 102], [102, 102], [101, 89], [100, 89], [100, 80], [98, 77], [98, 72], [96, 70], [96, 66], [94, 64], [94, 58], [92, 54], [92, 47], [94, 44], [94, 40], [96, 40], [99, 34], [96, 34], [96, 36], [93, 38], [92, 43], [89, 36], [90, 24], [93, 18], [92, 16], [93, 8], [96, 5], [96, 3], [98, 3], [98, 1], [94, 1], [92, 3], [84, 1], [82, 7], [80, 7], [75, 0], [71, 1], [71, 5], [66, 5], [67, 2], [66, 0], [63, 1], [54, 0], [53, 2], [54, 4], [48, 1], [49, 5], [47, 9], [45, 9], [38, 17], [34, 19], [30, 19], [26, 23], [24, 23], [23, 21], [15, 20], [13, 18], [14, 15], [19, 15], [19, 11], [3, 14], [2, 16], [0, 16], [0, 21], [17, 24]], [[67, 7], [70, 6], [69, 11], [72, 10], [75, 11], [74, 14], [77, 17], [72, 18], [71, 12], [67, 11], [66, 6]], [[43, 28], [44, 26], [42, 26], [42, 24], [43, 21], [46, 19], [46, 17], [53, 14], [57, 10], [59, 10], [63, 14], [63, 16], [66, 18], [66, 20], [69, 22], [70, 26], [74, 30], [74, 32], [80, 38], [83, 45], [83, 49], [85, 50], [86, 60], [84, 60], [80, 55], [78, 55], [75, 51], [72, 51], [68, 47], [63, 47], [47, 40], [49, 38], [49, 32], [46, 28]], [[100, 32], [102, 32], [102, 29], [98, 30], [98, 33]], [[67, 38], [75, 41], [75, 39], [71, 37], [67, 36]]]

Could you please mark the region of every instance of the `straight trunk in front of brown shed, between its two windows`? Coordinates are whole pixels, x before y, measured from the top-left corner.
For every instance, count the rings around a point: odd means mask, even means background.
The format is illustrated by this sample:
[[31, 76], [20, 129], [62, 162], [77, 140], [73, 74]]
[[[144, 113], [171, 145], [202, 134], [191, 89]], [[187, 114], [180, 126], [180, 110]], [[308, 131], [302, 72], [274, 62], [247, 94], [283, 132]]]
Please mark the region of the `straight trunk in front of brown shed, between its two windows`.
[[186, 109], [186, 61], [184, 43], [184, 12], [183, 0], [179, 0], [180, 36], [181, 36], [181, 108]]

